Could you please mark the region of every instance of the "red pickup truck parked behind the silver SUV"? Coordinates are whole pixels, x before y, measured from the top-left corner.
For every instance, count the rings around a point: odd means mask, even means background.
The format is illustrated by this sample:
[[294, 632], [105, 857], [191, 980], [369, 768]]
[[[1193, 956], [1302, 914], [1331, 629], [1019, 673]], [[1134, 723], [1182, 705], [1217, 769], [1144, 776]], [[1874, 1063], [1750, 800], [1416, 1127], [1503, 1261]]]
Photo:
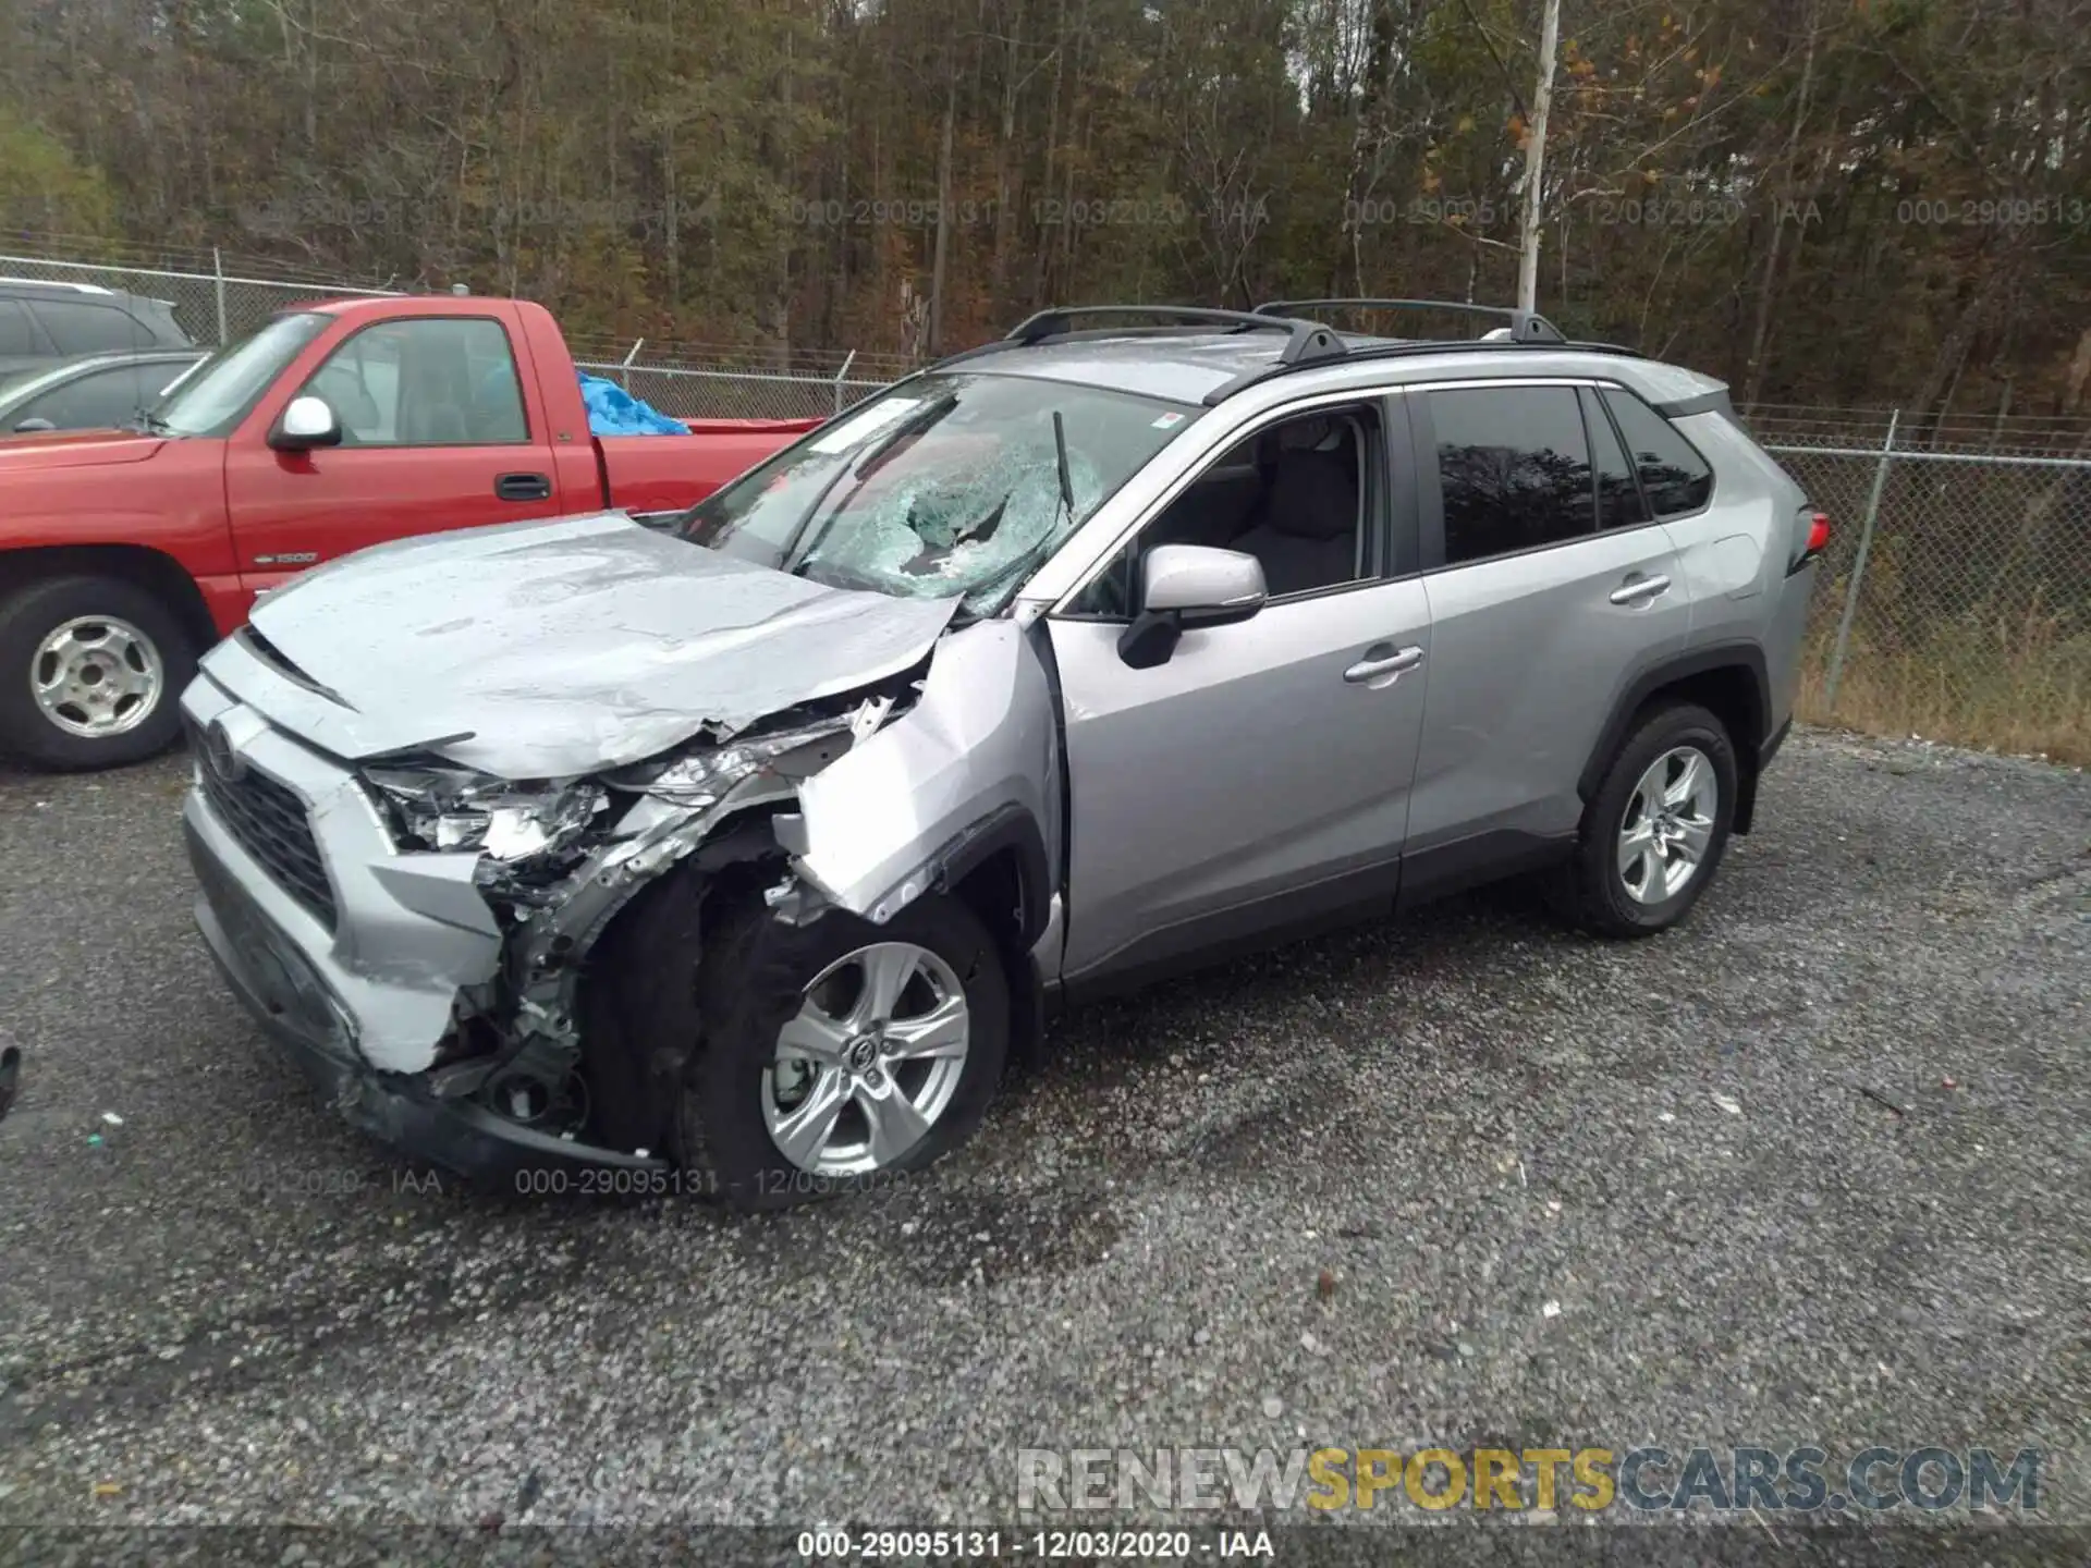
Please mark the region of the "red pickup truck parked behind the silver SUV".
[[682, 510], [818, 422], [594, 437], [539, 305], [284, 312], [140, 429], [0, 439], [0, 751], [148, 757], [197, 656], [299, 571], [410, 533]]

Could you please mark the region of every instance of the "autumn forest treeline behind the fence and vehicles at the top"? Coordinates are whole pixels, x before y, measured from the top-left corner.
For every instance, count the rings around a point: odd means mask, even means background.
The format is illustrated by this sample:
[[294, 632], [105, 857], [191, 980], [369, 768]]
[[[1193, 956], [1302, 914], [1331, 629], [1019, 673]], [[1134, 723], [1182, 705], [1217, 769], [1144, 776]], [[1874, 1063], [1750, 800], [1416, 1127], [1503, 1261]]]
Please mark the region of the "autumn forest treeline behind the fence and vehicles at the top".
[[[1508, 301], [1539, 0], [0, 0], [0, 224], [899, 353]], [[2081, 414], [2085, 0], [1564, 0], [1539, 309], [1748, 401]]]

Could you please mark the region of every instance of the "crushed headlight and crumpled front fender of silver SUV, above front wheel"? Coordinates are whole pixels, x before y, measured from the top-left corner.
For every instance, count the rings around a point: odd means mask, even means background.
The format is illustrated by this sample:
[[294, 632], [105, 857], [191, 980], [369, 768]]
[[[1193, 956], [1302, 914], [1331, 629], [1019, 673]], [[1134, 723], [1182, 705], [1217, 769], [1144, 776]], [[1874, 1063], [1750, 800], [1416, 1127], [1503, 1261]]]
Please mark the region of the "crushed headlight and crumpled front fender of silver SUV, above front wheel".
[[[401, 843], [477, 847], [475, 886], [502, 926], [496, 974], [458, 993], [458, 1029], [429, 1070], [441, 1100], [567, 1142], [654, 1158], [663, 1093], [700, 1047], [692, 1004], [677, 1039], [621, 1039], [590, 1008], [619, 916], [671, 872], [694, 912], [711, 897], [801, 926], [828, 909], [884, 924], [947, 889], [989, 843], [1025, 847], [1010, 953], [1046, 926], [1060, 803], [1050, 686], [1025, 631], [983, 621], [926, 667], [772, 715], [732, 736], [592, 780], [512, 786], [458, 769], [366, 771]], [[1020, 832], [1010, 834], [1010, 826]], [[611, 985], [705, 960], [692, 914], [673, 945]]]

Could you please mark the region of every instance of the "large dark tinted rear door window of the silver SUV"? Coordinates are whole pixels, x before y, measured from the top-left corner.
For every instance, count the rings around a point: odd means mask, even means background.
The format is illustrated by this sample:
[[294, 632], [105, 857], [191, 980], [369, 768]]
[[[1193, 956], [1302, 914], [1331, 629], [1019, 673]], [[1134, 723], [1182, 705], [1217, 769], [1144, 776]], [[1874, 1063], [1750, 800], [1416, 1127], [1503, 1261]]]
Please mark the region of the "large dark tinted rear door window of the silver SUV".
[[1430, 393], [1445, 564], [1595, 533], [1589, 443], [1572, 387]]

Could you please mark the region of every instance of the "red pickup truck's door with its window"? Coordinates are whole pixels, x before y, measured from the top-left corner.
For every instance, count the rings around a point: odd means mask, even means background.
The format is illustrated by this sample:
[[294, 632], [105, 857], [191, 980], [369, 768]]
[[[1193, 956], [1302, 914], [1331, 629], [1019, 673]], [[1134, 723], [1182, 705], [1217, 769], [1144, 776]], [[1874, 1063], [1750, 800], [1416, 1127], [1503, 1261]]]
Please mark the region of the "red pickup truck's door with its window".
[[374, 322], [295, 395], [324, 397], [343, 439], [276, 452], [266, 431], [245, 429], [230, 443], [226, 502], [253, 592], [385, 539], [560, 510], [550, 437], [529, 424], [508, 322], [496, 316]]

